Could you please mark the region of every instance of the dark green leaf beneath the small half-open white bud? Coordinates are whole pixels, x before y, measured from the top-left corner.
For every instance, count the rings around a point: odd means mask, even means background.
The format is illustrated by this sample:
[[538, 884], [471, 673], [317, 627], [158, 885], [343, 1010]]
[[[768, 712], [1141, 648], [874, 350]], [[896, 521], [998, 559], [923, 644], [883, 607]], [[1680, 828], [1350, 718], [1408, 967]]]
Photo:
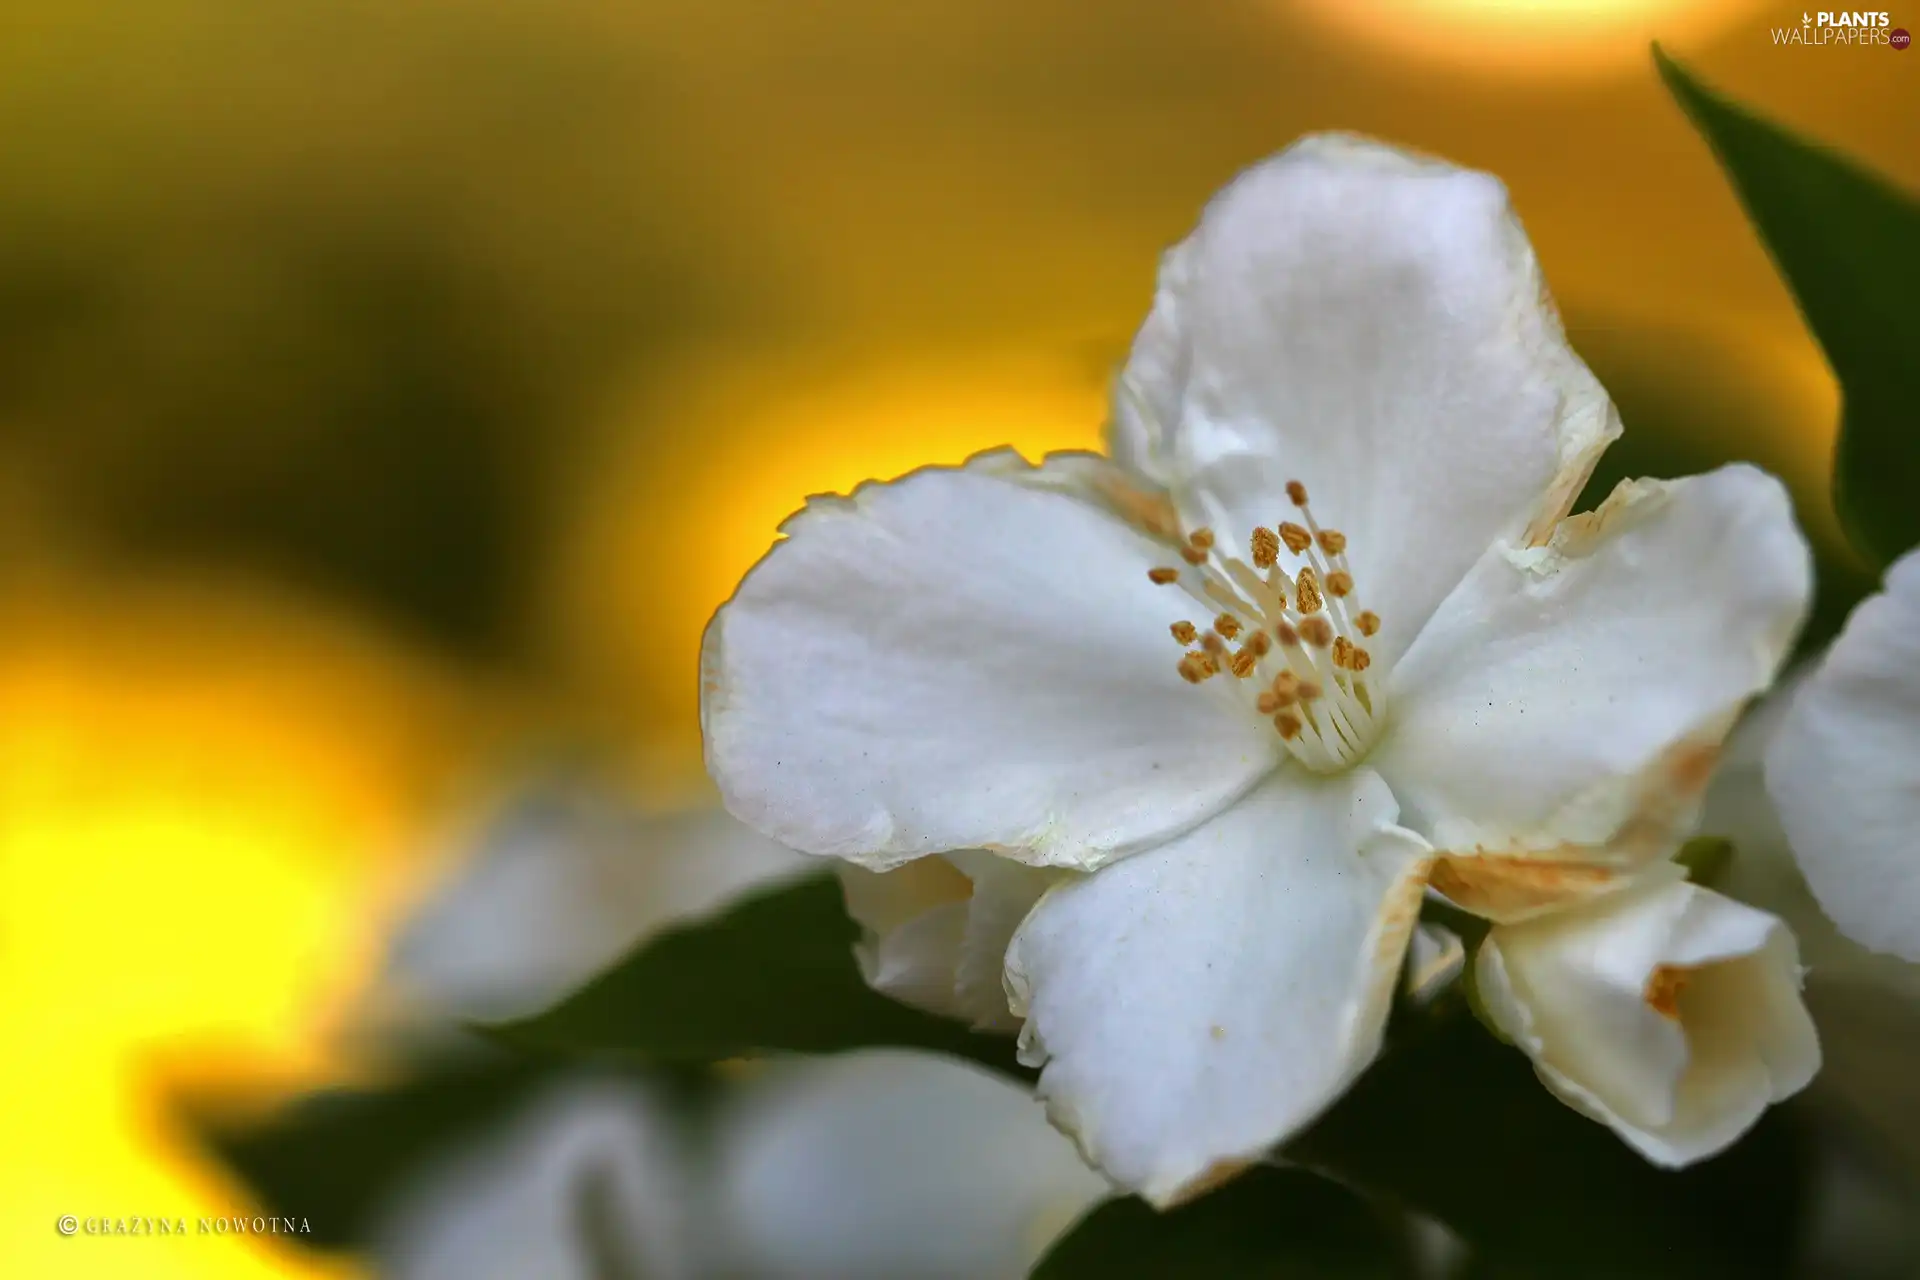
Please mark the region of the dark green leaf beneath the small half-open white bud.
[[1288, 1155], [1446, 1222], [1490, 1276], [1793, 1274], [1807, 1151], [1791, 1105], [1715, 1159], [1655, 1169], [1471, 1017], [1402, 1036]]

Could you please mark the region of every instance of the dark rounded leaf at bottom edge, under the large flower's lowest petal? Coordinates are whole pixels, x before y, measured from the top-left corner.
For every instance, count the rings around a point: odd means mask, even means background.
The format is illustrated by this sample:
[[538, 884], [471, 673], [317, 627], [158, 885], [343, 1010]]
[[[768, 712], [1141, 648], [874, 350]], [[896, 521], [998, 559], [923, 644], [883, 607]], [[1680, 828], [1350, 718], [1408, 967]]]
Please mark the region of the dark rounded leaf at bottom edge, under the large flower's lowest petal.
[[1041, 1259], [1033, 1280], [1390, 1280], [1411, 1274], [1396, 1234], [1356, 1194], [1300, 1169], [1254, 1169], [1160, 1213], [1112, 1199]]

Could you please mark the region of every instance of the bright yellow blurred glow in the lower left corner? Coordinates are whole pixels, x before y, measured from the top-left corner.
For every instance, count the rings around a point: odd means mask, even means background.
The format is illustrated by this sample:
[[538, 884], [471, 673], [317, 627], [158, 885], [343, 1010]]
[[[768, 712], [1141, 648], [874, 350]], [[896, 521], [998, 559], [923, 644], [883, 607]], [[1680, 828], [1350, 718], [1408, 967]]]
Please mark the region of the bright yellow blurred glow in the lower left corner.
[[[328, 1031], [482, 716], [338, 622], [198, 591], [0, 608], [0, 1257], [15, 1276], [348, 1276], [252, 1215], [177, 1088], [336, 1079]], [[401, 860], [403, 862], [403, 860]], [[56, 1232], [186, 1219], [184, 1238]]]

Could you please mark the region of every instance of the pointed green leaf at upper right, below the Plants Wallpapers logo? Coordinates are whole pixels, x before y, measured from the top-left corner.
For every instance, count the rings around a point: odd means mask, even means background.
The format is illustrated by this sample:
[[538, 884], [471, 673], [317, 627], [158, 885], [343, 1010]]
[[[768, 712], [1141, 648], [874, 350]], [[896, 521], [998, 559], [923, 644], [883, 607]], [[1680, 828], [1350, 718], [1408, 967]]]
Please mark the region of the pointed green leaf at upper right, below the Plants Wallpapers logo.
[[1653, 59], [1839, 378], [1834, 503], [1855, 547], [1889, 564], [1920, 545], [1920, 203], [1703, 86], [1659, 46]]

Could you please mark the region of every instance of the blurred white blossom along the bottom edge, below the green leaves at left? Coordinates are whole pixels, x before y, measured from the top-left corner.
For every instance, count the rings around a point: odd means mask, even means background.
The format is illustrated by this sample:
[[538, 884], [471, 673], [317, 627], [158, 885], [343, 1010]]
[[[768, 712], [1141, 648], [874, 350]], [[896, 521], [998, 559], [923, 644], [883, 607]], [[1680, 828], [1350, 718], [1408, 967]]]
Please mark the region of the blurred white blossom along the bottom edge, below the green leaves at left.
[[1014, 1280], [1108, 1196], [1033, 1098], [968, 1063], [776, 1061], [676, 1115], [582, 1075], [409, 1178], [396, 1280]]

